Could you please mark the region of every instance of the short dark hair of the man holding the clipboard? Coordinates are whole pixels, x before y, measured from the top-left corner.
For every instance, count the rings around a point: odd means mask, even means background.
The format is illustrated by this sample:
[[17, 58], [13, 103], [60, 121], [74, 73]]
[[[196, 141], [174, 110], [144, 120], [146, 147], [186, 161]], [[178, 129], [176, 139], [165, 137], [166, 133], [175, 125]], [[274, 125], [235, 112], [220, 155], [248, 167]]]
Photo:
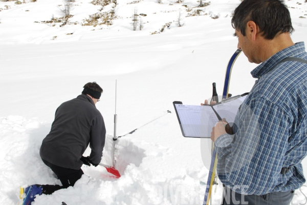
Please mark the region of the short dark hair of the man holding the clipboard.
[[294, 31], [290, 12], [283, 0], [244, 0], [235, 10], [231, 19], [232, 27], [246, 35], [246, 25], [252, 20], [259, 26], [265, 39], [277, 34]]

